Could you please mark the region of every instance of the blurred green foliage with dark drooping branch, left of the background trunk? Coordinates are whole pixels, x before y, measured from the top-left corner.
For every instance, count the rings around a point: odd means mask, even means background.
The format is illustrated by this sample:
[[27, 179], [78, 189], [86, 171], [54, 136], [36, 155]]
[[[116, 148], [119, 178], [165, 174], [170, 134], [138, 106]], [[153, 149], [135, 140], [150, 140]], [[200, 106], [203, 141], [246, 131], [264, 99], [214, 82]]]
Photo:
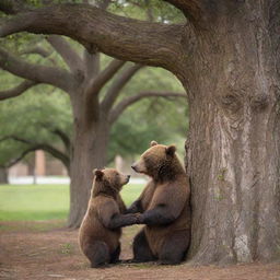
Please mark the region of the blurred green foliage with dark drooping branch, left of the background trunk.
[[0, 104], [0, 165], [9, 168], [25, 155], [44, 150], [69, 173], [71, 110], [69, 100], [42, 86]]

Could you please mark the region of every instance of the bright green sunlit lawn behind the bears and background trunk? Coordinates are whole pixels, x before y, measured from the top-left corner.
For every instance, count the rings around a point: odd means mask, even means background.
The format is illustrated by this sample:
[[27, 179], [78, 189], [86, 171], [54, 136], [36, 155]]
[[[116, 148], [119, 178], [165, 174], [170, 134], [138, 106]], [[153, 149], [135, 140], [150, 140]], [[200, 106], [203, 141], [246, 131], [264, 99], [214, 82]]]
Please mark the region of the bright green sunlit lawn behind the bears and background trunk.
[[[143, 185], [126, 185], [121, 196], [130, 205]], [[0, 185], [0, 221], [66, 219], [68, 185]]]

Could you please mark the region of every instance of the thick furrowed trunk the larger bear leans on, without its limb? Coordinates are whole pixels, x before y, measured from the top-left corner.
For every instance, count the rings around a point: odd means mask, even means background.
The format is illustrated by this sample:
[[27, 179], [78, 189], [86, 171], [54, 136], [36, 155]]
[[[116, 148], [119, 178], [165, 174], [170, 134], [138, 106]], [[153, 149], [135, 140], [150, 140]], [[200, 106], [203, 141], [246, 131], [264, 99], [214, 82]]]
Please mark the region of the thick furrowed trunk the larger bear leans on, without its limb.
[[280, 19], [261, 1], [228, 9], [197, 34], [186, 73], [189, 257], [271, 261], [280, 258]]

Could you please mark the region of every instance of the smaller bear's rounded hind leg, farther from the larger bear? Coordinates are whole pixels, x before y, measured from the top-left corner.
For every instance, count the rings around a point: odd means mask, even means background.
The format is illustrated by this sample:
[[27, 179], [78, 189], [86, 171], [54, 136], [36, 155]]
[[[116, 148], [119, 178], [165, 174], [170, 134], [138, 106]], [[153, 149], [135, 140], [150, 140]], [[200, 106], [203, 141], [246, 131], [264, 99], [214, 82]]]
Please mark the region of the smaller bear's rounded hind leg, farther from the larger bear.
[[105, 242], [97, 241], [91, 244], [84, 250], [85, 256], [91, 261], [92, 268], [98, 268], [107, 265], [110, 260], [109, 249]]

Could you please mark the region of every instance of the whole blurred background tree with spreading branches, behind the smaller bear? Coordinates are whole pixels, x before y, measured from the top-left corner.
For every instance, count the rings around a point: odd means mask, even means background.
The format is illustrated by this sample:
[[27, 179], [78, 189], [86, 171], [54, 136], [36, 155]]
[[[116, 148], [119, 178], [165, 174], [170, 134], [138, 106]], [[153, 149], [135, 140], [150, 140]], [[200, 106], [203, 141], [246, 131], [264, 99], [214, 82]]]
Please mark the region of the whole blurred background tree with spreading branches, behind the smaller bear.
[[[20, 2], [13, 2], [14, 7], [16, 8], [16, 3], [20, 4]], [[109, 3], [110, 1], [104, 0], [98, 1], [97, 5], [101, 10], [105, 10]], [[12, 7], [10, 9], [9, 1], [3, 2], [2, 7], [2, 11], [8, 14], [24, 11], [23, 5], [19, 5], [19, 10], [13, 10]], [[143, 97], [185, 97], [185, 94], [142, 90], [138, 93], [130, 92], [129, 96], [122, 95], [119, 100], [118, 96], [125, 85], [143, 68], [142, 65], [107, 59], [103, 67], [97, 49], [91, 49], [89, 52], [56, 35], [46, 37], [46, 40], [51, 46], [50, 49], [45, 45], [34, 44], [36, 38], [32, 38], [32, 45], [27, 45], [26, 39], [23, 39], [20, 46], [15, 46], [15, 54], [7, 51], [11, 45], [10, 42], [2, 43], [3, 46], [4, 44], [8, 46], [0, 48], [0, 67], [26, 80], [14, 89], [1, 92], [0, 98], [21, 95], [38, 84], [50, 84], [69, 95], [74, 121], [70, 155], [71, 186], [68, 224], [70, 228], [77, 228], [86, 210], [92, 170], [106, 164], [109, 130], [120, 114]], [[62, 60], [60, 62], [63, 67], [54, 59], [51, 55], [54, 51]], [[34, 63], [34, 54], [45, 59]], [[30, 142], [30, 144], [34, 143]]]

